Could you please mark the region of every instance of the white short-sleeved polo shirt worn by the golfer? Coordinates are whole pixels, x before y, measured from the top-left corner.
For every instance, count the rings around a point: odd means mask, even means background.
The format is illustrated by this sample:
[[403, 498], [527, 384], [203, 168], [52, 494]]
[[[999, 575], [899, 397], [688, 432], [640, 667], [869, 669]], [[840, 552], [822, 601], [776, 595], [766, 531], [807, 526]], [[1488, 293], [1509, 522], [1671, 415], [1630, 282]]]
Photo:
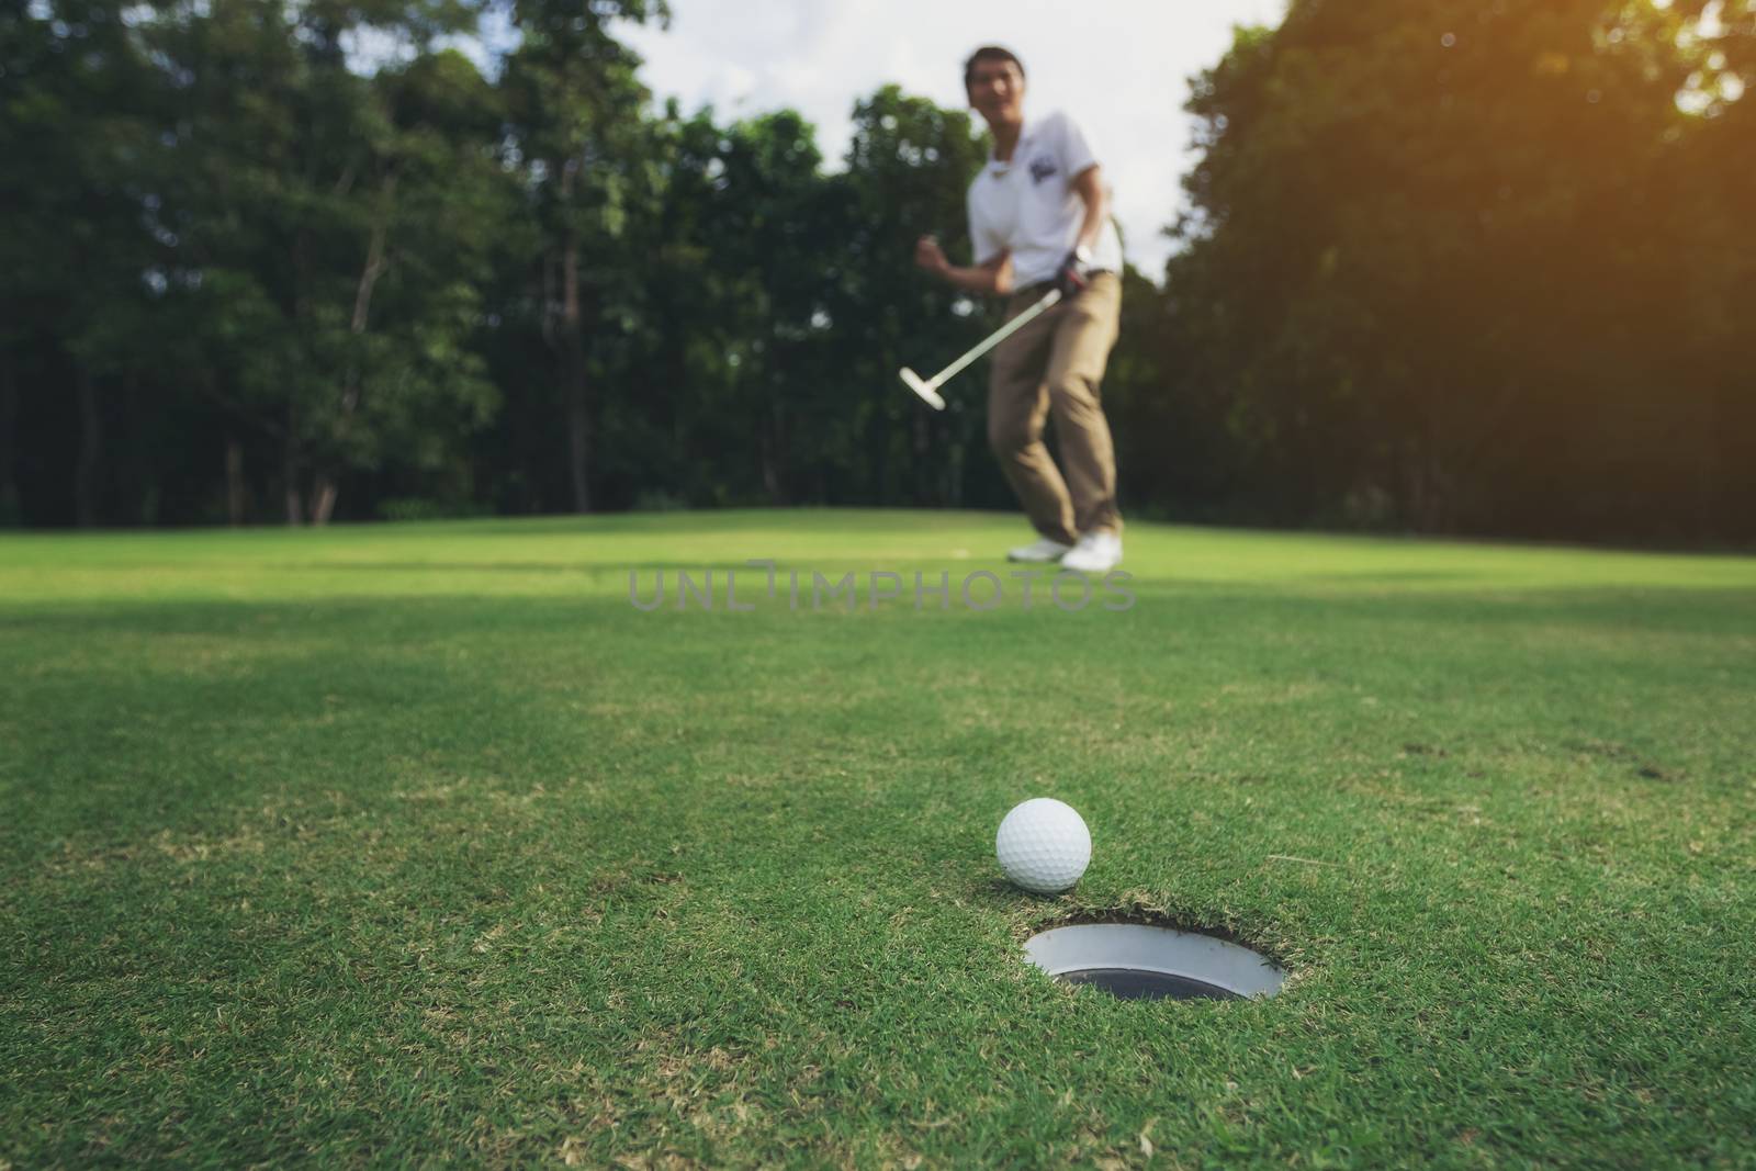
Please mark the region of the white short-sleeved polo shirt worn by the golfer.
[[[1011, 249], [1013, 284], [1052, 281], [1085, 223], [1085, 200], [1073, 181], [1098, 165], [1085, 135], [1066, 114], [1026, 121], [1010, 163], [989, 154], [969, 184], [969, 239], [983, 265]], [[1122, 237], [1106, 219], [1092, 249], [1092, 267], [1122, 270]]]

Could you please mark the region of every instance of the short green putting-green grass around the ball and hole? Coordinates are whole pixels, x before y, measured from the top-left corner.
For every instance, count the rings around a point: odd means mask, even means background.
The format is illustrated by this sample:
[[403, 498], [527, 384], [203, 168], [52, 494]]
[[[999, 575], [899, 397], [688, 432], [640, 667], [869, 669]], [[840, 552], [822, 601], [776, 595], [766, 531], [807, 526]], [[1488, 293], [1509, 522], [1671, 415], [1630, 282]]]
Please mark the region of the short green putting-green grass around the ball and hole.
[[[627, 597], [1022, 535], [0, 539], [0, 1166], [1756, 1166], [1756, 560], [1136, 525], [1126, 613]], [[992, 860], [1040, 794], [1064, 899]], [[1018, 960], [1106, 909], [1292, 978]]]

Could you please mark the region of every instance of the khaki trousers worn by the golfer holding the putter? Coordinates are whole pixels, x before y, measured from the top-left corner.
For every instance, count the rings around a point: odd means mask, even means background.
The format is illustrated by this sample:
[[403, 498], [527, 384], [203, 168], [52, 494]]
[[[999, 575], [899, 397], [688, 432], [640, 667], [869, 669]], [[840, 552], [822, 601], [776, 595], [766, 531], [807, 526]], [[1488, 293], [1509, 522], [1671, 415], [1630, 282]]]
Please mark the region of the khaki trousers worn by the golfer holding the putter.
[[[1047, 288], [1006, 302], [1006, 320], [1036, 304]], [[989, 446], [1041, 535], [1073, 544], [1087, 532], [1122, 534], [1115, 507], [1115, 444], [1099, 388], [1122, 316], [1122, 279], [1099, 272], [994, 349], [989, 376]], [[1043, 423], [1055, 416], [1066, 479], [1048, 458]]]

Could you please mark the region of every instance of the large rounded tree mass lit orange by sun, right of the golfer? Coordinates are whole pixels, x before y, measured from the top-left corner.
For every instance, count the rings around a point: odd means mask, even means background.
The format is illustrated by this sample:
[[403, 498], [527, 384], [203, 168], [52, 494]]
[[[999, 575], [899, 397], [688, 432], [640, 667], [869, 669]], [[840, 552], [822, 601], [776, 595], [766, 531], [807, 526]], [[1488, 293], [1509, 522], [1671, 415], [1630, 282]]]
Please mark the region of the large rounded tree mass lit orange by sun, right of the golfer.
[[1702, 486], [1738, 460], [1691, 284], [1751, 256], [1691, 248], [1675, 39], [1644, 4], [1306, 0], [1198, 81], [1180, 353], [1270, 511], [1747, 535]]

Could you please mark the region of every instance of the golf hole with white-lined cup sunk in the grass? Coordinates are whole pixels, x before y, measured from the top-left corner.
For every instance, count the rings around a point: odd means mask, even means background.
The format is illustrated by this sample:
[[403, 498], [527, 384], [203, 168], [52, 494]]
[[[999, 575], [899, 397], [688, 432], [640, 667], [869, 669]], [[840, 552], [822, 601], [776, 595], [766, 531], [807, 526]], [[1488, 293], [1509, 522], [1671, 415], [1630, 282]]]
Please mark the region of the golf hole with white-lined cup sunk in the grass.
[[1287, 974], [1226, 939], [1145, 923], [1076, 923], [1031, 936], [1024, 959], [1055, 980], [1129, 1001], [1275, 995]]

